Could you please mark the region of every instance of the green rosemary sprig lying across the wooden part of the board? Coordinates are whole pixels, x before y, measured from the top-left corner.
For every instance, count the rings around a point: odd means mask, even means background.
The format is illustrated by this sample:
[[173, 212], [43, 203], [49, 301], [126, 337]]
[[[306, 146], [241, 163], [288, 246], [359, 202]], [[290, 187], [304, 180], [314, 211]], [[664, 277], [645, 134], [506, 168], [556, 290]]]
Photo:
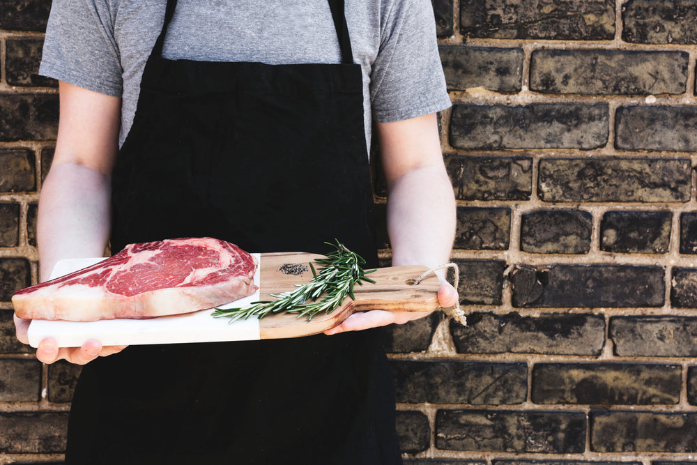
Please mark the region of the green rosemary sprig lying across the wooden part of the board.
[[[250, 317], [265, 317], [268, 314], [286, 312], [298, 313], [298, 318], [306, 317], [311, 320], [316, 314], [325, 312], [330, 314], [344, 301], [346, 296], [355, 299], [353, 286], [361, 285], [363, 281], [374, 282], [367, 273], [375, 270], [364, 270], [365, 259], [355, 252], [348, 250], [342, 243], [335, 241], [332, 245], [336, 250], [327, 254], [325, 259], [316, 259], [315, 263], [321, 265], [319, 273], [314, 266], [312, 280], [307, 284], [296, 284], [293, 291], [281, 294], [270, 294], [277, 300], [263, 300], [250, 303], [246, 307], [215, 309], [213, 317], [229, 318], [230, 322]], [[318, 300], [321, 296], [321, 300]]]

